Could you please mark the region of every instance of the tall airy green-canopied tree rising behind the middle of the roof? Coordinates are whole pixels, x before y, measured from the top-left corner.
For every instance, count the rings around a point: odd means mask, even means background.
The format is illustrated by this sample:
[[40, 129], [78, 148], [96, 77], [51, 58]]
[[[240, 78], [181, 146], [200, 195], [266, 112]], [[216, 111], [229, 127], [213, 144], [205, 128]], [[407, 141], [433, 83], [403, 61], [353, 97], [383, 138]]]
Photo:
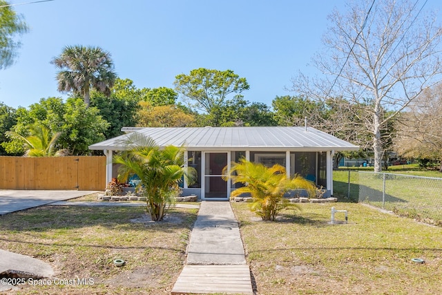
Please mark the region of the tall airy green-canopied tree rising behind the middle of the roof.
[[[177, 75], [173, 84], [178, 93], [193, 101], [192, 106], [213, 116], [225, 105], [229, 95], [236, 93], [240, 97], [242, 91], [249, 89], [247, 80], [233, 73], [233, 70], [206, 68], [191, 70], [189, 75]], [[219, 126], [217, 118], [214, 122], [215, 126]]]

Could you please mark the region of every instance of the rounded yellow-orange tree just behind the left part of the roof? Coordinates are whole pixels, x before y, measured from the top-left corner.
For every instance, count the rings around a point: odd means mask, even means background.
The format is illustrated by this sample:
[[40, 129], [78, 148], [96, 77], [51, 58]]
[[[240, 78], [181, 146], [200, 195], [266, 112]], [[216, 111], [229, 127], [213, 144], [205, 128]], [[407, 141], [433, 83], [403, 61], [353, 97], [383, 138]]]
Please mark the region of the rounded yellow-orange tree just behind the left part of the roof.
[[175, 104], [152, 106], [149, 102], [140, 102], [136, 126], [184, 127], [193, 124], [194, 121], [193, 115], [182, 111]]

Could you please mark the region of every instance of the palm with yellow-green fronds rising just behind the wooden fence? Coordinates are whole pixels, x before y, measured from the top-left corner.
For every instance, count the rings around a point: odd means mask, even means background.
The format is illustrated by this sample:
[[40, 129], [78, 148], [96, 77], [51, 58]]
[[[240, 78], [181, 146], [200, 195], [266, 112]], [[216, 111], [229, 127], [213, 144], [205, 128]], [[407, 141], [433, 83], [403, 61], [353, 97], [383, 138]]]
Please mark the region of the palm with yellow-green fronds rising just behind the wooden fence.
[[64, 150], [57, 151], [55, 149], [55, 142], [61, 133], [51, 134], [48, 128], [41, 125], [32, 126], [31, 133], [32, 135], [24, 137], [13, 131], [8, 131], [6, 135], [23, 141], [26, 149], [25, 157], [51, 157], [64, 153]]

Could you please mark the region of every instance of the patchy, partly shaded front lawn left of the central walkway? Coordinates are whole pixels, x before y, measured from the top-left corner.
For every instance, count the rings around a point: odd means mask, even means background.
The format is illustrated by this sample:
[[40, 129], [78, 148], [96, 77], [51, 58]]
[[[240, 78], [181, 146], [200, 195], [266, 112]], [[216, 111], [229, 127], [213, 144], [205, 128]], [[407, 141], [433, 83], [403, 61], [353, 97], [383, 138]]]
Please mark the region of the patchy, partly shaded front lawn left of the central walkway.
[[[171, 209], [166, 220], [143, 223], [133, 220], [145, 220], [144, 207], [38, 207], [1, 216], [0, 249], [50, 263], [61, 280], [93, 279], [17, 294], [170, 294], [197, 211]], [[126, 265], [115, 267], [117, 258]]]

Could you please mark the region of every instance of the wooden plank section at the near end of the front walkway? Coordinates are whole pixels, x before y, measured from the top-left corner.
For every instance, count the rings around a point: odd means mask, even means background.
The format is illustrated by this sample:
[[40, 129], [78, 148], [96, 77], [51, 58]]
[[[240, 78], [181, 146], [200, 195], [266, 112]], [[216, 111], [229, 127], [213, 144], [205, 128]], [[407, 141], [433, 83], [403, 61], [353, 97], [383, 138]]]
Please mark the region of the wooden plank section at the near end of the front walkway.
[[171, 294], [250, 294], [249, 265], [185, 265]]

